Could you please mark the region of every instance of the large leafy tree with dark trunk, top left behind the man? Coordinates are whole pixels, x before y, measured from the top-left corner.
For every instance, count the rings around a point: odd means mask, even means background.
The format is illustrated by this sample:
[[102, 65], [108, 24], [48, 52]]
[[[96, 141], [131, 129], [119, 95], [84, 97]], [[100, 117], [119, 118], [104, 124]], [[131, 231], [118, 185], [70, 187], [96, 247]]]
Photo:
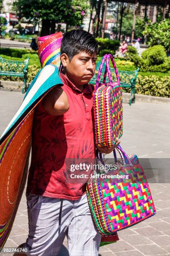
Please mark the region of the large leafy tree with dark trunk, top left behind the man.
[[14, 10], [30, 22], [42, 20], [41, 36], [55, 33], [55, 23], [80, 26], [87, 13], [85, 0], [15, 0]]

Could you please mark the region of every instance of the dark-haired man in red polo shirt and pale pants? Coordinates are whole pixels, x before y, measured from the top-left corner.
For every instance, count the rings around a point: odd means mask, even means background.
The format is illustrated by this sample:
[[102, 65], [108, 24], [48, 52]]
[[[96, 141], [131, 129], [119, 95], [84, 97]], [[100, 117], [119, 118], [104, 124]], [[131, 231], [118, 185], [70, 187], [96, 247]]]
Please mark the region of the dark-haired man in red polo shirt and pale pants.
[[[57, 255], [65, 236], [70, 256], [97, 256], [101, 235], [87, 202], [85, 182], [70, 183], [67, 159], [95, 159], [92, 91], [97, 42], [82, 30], [65, 33], [61, 45], [63, 86], [37, 105], [26, 191], [28, 255]], [[120, 140], [117, 138], [117, 146]], [[113, 148], [97, 147], [101, 153]]]

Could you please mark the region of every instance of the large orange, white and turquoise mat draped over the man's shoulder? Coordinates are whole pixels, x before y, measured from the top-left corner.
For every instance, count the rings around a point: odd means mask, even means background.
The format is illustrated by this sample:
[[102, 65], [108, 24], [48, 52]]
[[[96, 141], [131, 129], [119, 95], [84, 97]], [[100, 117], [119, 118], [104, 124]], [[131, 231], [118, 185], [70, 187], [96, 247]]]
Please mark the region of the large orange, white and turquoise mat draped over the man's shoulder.
[[41, 69], [0, 138], [0, 250], [13, 227], [25, 187], [34, 108], [56, 84], [62, 84], [57, 67]]

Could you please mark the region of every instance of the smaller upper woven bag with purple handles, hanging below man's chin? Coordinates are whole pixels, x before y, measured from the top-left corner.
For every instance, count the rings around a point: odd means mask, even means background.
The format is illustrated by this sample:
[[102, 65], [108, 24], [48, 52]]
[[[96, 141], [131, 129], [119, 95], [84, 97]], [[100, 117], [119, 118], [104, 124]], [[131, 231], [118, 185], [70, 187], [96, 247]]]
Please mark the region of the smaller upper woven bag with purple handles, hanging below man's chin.
[[[112, 82], [109, 61], [112, 61], [117, 82]], [[103, 83], [99, 82], [103, 64], [106, 60]], [[105, 83], [108, 73], [110, 83]], [[122, 90], [120, 79], [111, 54], [105, 54], [100, 64], [95, 90], [93, 91], [93, 110], [95, 123], [95, 142], [97, 146], [111, 147], [115, 138], [122, 136]]]

